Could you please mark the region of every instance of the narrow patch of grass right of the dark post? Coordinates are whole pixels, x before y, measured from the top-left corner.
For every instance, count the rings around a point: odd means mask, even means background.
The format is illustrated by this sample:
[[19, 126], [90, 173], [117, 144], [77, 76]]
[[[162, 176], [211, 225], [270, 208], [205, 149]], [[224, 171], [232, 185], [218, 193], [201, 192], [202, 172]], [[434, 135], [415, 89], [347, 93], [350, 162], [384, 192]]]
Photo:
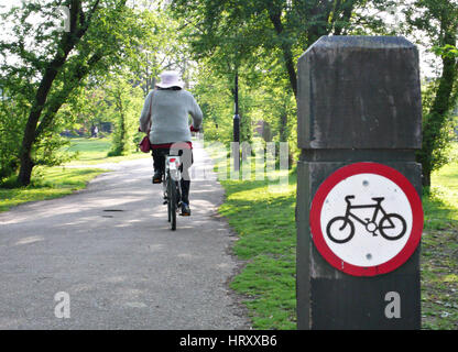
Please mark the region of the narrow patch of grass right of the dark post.
[[422, 323], [424, 329], [458, 329], [458, 143], [451, 162], [434, 173], [423, 196]]

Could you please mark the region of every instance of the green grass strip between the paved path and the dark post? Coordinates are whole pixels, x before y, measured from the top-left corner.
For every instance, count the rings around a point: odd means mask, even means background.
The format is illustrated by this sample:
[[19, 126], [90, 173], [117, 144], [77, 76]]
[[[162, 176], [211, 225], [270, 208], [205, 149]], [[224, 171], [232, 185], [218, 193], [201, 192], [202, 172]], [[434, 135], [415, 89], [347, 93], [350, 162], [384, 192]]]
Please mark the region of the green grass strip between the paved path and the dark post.
[[[226, 156], [209, 152], [215, 158]], [[218, 176], [222, 178], [219, 170]], [[220, 183], [226, 201], [219, 212], [240, 235], [233, 252], [247, 263], [230, 287], [244, 296], [253, 328], [295, 329], [295, 176], [290, 175], [288, 186], [281, 193], [268, 179]]]

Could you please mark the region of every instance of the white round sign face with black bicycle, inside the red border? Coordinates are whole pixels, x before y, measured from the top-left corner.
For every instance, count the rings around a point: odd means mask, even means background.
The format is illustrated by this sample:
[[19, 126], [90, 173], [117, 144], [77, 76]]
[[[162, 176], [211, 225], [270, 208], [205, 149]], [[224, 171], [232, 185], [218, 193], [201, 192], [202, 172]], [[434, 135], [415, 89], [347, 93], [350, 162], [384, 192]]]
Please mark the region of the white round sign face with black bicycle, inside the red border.
[[357, 174], [330, 189], [319, 223], [335, 255], [368, 267], [386, 263], [402, 251], [412, 231], [413, 213], [406, 195], [391, 179]]

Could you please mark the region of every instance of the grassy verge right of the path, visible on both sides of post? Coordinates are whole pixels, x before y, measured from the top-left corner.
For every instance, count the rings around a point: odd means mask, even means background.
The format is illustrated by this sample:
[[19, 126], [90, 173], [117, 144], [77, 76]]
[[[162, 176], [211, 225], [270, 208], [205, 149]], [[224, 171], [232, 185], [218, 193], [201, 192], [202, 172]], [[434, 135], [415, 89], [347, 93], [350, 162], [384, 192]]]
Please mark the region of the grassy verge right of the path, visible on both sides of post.
[[[458, 329], [458, 163], [436, 173], [433, 183], [440, 186], [423, 197], [422, 323]], [[255, 329], [295, 329], [295, 175], [281, 194], [271, 193], [268, 180], [221, 185], [227, 198], [219, 211], [239, 233], [233, 251], [247, 263], [231, 288], [246, 297]]]

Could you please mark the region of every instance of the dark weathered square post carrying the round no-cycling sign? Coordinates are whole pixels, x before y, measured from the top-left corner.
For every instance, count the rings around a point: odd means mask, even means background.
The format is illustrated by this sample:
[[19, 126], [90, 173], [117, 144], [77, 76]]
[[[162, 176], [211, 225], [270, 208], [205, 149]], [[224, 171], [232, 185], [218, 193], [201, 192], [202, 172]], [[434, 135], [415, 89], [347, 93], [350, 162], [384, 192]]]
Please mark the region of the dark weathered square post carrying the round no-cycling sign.
[[317, 250], [309, 219], [319, 186], [353, 163], [394, 168], [421, 196], [417, 50], [403, 37], [324, 36], [297, 73], [297, 327], [419, 329], [419, 246], [390, 273], [349, 275]]

